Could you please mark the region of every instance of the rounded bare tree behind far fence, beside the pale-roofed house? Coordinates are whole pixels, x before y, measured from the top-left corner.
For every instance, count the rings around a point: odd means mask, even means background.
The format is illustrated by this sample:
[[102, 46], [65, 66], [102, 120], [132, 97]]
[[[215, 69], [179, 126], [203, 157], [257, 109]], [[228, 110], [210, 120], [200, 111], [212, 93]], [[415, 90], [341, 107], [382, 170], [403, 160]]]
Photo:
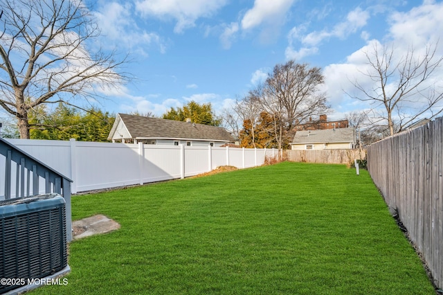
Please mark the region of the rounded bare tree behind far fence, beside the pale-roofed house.
[[261, 103], [274, 118], [275, 138], [279, 149], [286, 136], [291, 136], [293, 127], [309, 116], [324, 114], [327, 106], [325, 93], [319, 87], [324, 78], [320, 68], [297, 64], [290, 60], [277, 64], [266, 79]]

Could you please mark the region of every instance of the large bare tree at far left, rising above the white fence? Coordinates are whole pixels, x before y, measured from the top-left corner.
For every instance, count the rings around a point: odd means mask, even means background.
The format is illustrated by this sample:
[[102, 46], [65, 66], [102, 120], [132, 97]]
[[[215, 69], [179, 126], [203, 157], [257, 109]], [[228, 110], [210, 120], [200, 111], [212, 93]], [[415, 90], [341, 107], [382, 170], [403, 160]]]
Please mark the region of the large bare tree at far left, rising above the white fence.
[[[82, 0], [3, 0], [0, 21], [0, 105], [29, 138], [28, 111], [98, 98], [100, 87], [127, 82], [115, 53], [88, 51], [99, 30]], [[76, 106], [76, 105], [74, 105]]]

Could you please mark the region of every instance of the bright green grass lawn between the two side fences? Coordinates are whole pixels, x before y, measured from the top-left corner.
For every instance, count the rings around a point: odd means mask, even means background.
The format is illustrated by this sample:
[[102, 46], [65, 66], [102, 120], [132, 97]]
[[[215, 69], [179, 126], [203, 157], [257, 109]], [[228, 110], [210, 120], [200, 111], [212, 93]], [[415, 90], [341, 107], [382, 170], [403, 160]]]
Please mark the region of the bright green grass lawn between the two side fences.
[[35, 294], [435, 294], [368, 172], [280, 163], [74, 196], [68, 285]]

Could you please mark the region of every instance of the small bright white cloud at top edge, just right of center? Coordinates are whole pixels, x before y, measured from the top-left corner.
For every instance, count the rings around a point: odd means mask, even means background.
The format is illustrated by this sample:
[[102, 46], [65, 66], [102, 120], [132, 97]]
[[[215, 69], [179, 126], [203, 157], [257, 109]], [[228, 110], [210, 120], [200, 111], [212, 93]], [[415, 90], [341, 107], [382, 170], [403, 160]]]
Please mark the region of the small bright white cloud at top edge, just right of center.
[[293, 2], [294, 0], [255, 0], [253, 8], [242, 19], [242, 29], [248, 30], [264, 22], [281, 21]]

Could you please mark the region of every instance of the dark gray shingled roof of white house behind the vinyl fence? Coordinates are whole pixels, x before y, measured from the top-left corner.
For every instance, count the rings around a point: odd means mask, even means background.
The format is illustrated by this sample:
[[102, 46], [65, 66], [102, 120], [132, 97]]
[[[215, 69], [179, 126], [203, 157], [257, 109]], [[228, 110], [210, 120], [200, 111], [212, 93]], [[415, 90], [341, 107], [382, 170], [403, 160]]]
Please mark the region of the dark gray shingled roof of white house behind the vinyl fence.
[[[235, 138], [222, 127], [186, 123], [176, 120], [118, 114], [132, 138], [170, 138], [234, 142]], [[111, 132], [115, 132], [113, 130]], [[112, 136], [112, 134], [109, 134]]]

